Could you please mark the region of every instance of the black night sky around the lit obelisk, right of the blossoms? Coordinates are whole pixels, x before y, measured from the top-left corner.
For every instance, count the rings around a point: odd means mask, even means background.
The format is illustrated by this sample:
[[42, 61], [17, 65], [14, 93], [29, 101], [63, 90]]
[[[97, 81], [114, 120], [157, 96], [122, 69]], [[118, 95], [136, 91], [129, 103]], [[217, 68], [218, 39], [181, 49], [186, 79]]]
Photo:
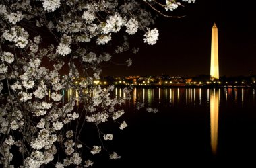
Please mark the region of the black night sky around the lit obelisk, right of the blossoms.
[[[184, 3], [183, 3], [184, 4]], [[140, 48], [137, 54], [113, 56], [113, 62], [133, 65], [108, 65], [102, 75], [171, 75], [195, 77], [210, 75], [211, 32], [218, 27], [220, 77], [256, 74], [256, 10], [253, 4], [232, 0], [197, 0], [179, 7], [172, 15], [181, 19], [159, 17], [152, 28], [160, 32], [158, 43], [143, 43], [143, 34], [131, 37], [131, 46]], [[113, 36], [115, 38], [115, 36]]]

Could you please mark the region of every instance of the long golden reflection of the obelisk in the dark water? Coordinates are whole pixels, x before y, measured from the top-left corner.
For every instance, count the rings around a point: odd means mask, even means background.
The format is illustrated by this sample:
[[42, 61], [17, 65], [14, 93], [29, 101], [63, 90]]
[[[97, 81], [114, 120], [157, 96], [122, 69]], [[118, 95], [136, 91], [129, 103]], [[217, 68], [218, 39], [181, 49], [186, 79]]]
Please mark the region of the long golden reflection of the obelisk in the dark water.
[[219, 119], [219, 89], [210, 91], [210, 128], [211, 128], [211, 147], [215, 155], [218, 146], [218, 119]]

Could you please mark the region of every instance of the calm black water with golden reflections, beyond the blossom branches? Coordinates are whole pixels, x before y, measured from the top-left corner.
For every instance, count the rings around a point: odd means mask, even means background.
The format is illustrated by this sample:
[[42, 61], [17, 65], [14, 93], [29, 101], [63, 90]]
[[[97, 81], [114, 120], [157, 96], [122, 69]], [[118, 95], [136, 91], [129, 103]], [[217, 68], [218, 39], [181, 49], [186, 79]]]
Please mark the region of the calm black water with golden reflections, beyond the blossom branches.
[[[137, 101], [159, 112], [135, 111]], [[123, 108], [128, 127], [109, 145], [122, 157], [96, 157], [96, 167], [256, 166], [253, 88], [137, 88]]]

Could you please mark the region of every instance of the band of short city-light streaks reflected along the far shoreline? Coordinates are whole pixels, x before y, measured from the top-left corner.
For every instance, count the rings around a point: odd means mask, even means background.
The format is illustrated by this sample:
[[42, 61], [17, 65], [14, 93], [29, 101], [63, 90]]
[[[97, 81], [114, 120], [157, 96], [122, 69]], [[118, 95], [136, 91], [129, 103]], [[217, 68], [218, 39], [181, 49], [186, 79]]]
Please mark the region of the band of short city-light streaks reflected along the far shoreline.
[[[145, 103], [146, 106], [205, 106], [210, 104], [212, 89], [207, 88], [134, 88], [131, 99], [125, 104], [135, 106], [137, 102]], [[86, 93], [86, 91], [84, 91]], [[125, 98], [125, 93], [121, 88], [115, 88], [113, 96], [116, 99]], [[75, 99], [79, 104], [79, 93], [77, 90], [69, 88], [62, 90], [63, 103]], [[90, 96], [94, 96], [94, 91]], [[49, 90], [49, 99], [51, 91]], [[255, 103], [255, 89], [251, 88], [222, 88], [218, 89], [218, 100], [226, 103], [234, 103], [236, 106], [244, 106], [246, 101]], [[222, 102], [224, 103], [224, 102]]]

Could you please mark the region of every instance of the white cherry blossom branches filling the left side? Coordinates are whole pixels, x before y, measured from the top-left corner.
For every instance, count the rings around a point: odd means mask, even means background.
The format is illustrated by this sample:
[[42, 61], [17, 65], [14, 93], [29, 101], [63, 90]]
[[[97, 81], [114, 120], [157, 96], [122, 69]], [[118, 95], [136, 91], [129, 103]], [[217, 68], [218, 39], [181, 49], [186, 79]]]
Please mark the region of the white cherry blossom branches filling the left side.
[[[0, 167], [91, 167], [96, 164], [91, 158], [103, 150], [109, 159], [119, 159], [102, 143], [82, 137], [91, 125], [100, 135], [96, 138], [107, 142], [113, 134], [100, 126], [110, 121], [120, 130], [128, 126], [120, 105], [131, 98], [131, 88], [123, 89], [125, 98], [111, 97], [114, 86], [97, 83], [101, 67], [115, 54], [137, 53], [129, 37], [139, 32], [144, 32], [141, 41], [156, 44], [157, 17], [150, 9], [160, 5], [154, 9], [168, 14], [181, 3], [1, 1]], [[130, 58], [125, 60], [123, 65], [132, 66]], [[143, 106], [137, 103], [138, 109]], [[22, 162], [15, 163], [17, 157]]]

